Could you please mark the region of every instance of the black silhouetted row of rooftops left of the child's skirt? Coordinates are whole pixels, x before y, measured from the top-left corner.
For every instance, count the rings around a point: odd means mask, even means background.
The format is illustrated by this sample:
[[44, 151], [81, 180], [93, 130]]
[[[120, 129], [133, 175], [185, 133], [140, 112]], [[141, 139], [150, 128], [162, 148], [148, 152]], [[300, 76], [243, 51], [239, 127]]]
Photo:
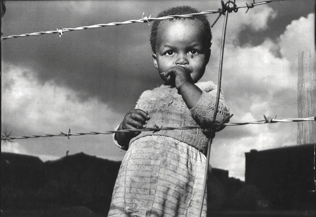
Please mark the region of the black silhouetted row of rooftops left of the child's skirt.
[[44, 163], [2, 152], [1, 210], [82, 206], [106, 215], [120, 163], [84, 153]]

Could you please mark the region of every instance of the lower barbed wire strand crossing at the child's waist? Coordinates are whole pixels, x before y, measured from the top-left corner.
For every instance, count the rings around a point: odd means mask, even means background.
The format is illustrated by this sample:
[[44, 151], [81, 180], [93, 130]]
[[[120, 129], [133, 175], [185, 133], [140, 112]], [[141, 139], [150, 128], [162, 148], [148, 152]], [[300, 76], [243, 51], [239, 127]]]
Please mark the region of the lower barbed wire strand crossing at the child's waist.
[[[301, 121], [315, 121], [316, 117], [309, 117], [309, 118], [289, 118], [289, 119], [271, 119], [267, 120], [258, 120], [252, 122], [232, 122], [232, 123], [225, 123], [224, 126], [240, 126], [240, 125], [247, 125], [247, 124], [269, 124], [269, 123], [277, 123], [277, 122], [301, 122]], [[106, 132], [81, 132], [81, 133], [64, 133], [61, 132], [59, 134], [45, 134], [45, 135], [33, 135], [33, 136], [6, 136], [1, 134], [1, 140], [8, 140], [8, 139], [27, 139], [27, 138], [39, 138], [39, 137], [55, 137], [55, 136], [83, 136], [83, 135], [99, 135], [99, 134], [112, 134], [116, 132], [142, 132], [142, 131], [153, 131], [157, 132], [160, 130], [186, 130], [186, 129], [197, 129], [201, 128], [200, 126], [178, 126], [178, 127], [147, 127], [144, 129], [126, 129], [126, 130], [112, 130]]]

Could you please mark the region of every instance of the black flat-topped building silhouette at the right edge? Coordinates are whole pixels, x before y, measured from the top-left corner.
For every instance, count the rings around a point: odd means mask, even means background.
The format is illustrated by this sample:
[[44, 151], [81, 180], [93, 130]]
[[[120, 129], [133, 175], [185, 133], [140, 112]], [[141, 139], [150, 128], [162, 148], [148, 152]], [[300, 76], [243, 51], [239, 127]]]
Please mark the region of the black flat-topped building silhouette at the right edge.
[[314, 144], [245, 154], [245, 184], [255, 186], [272, 208], [316, 208]]

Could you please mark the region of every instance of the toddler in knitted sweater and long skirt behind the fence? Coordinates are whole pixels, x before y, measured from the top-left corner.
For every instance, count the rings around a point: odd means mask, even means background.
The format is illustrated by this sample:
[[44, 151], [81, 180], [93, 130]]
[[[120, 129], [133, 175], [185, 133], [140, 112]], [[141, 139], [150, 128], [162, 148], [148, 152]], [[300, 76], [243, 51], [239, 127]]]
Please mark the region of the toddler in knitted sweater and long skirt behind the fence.
[[[181, 6], [165, 10], [158, 17], [191, 13], [198, 11]], [[114, 141], [127, 152], [108, 216], [197, 216], [209, 139], [203, 129], [210, 127], [216, 104], [216, 85], [197, 82], [210, 58], [210, 24], [204, 15], [155, 21], [150, 42], [154, 65], [165, 84], [144, 91], [118, 129], [201, 128], [117, 132]], [[216, 121], [223, 123], [228, 117], [221, 96]], [[206, 196], [203, 204], [202, 216], [206, 216]]]

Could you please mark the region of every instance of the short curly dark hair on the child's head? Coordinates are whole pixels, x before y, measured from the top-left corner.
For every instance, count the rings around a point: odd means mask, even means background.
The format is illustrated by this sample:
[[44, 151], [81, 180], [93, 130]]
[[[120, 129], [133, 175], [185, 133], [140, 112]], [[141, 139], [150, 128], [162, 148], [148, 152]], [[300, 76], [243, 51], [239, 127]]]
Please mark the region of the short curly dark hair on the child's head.
[[[167, 10], [161, 11], [157, 17], [164, 17], [164, 16], [170, 16], [170, 15], [184, 15], [184, 14], [193, 14], [193, 13], [199, 13], [195, 8], [192, 8], [190, 6], [178, 6], [178, 7], [173, 7], [169, 8]], [[211, 40], [212, 40], [212, 33], [211, 33], [211, 27], [210, 23], [207, 20], [205, 15], [194, 15], [192, 17], [176, 17], [172, 18], [169, 20], [200, 20], [203, 24], [203, 29], [204, 29], [204, 40], [205, 44], [208, 48], [211, 46]], [[157, 38], [158, 38], [158, 30], [159, 30], [159, 24], [161, 23], [161, 20], [155, 20], [154, 24], [151, 27], [151, 32], [150, 32], [150, 44], [151, 44], [151, 49], [153, 50], [154, 53], [156, 53], [156, 43], [157, 43]]]

